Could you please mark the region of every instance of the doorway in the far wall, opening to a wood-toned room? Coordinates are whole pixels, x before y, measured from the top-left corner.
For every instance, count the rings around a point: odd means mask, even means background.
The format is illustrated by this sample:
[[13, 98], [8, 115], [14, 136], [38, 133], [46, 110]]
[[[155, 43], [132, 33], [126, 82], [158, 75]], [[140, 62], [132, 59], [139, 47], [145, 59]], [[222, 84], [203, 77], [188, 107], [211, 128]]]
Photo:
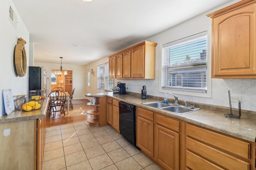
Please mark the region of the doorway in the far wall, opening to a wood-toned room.
[[71, 93], [73, 89], [73, 70], [66, 70], [68, 74], [64, 76], [64, 74], [56, 74], [60, 70], [52, 70], [51, 71], [51, 90], [55, 87], [62, 87], [64, 92]]

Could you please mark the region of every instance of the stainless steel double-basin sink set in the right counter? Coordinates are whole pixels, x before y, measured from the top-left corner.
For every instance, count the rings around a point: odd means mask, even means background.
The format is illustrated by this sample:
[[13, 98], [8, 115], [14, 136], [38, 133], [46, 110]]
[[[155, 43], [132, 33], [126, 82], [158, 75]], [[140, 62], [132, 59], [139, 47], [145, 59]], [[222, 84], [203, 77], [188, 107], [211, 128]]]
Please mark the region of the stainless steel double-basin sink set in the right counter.
[[149, 103], [142, 103], [142, 104], [150, 107], [155, 107], [157, 109], [162, 109], [165, 111], [170, 111], [176, 114], [190, 113], [192, 111], [199, 110], [199, 108], [196, 108], [196, 107], [192, 109], [192, 108], [182, 106], [182, 105], [177, 105], [177, 104], [164, 104], [163, 102], [149, 102]]

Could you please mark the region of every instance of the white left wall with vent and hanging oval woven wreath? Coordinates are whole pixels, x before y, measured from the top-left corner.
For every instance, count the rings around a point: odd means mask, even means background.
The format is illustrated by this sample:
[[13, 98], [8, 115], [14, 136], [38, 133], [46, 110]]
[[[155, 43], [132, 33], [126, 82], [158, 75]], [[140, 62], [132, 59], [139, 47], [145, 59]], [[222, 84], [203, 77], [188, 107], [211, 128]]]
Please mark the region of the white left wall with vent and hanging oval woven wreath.
[[[12, 6], [12, 9], [17, 16], [17, 28], [15, 28], [9, 20], [10, 5]], [[28, 66], [29, 32], [23, 21], [21, 20], [12, 1], [9, 0], [0, 1], [0, 23], [0, 116], [2, 116], [5, 114], [4, 102], [2, 97], [2, 91], [4, 89], [10, 88], [14, 96], [18, 94], [27, 94], [28, 91], [28, 68], [24, 77], [18, 77], [14, 63], [14, 51], [18, 38], [22, 37], [27, 42], [25, 45], [25, 49], [27, 52]]]

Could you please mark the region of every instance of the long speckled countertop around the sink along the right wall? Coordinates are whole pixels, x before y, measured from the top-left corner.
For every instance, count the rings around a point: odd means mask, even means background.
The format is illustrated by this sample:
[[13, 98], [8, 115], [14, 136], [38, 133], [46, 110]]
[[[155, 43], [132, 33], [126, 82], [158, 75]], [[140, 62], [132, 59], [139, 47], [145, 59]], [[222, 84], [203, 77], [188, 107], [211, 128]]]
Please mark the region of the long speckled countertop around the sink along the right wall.
[[191, 113], [178, 115], [175, 113], [164, 111], [162, 109], [157, 109], [157, 108], [149, 107], [142, 104], [146, 102], [156, 102], [156, 100], [154, 99], [141, 99], [138, 96], [132, 96], [128, 94], [119, 95], [119, 94], [113, 94], [112, 92], [106, 92], [106, 93], [86, 94], [85, 96], [88, 96], [88, 97], [108, 96], [118, 101], [127, 102], [145, 109], [149, 109], [152, 111], [156, 111], [158, 113], [162, 113], [164, 115], [168, 115], [170, 117], [175, 117], [177, 119], [194, 123], [202, 127], [219, 131], [219, 132], [222, 132], [234, 137], [238, 137], [247, 141], [255, 142], [256, 119], [251, 119], [247, 117], [240, 117], [240, 119], [229, 118], [229, 117], [225, 117], [224, 113], [211, 111], [208, 109], [200, 109], [198, 111], [194, 111]]

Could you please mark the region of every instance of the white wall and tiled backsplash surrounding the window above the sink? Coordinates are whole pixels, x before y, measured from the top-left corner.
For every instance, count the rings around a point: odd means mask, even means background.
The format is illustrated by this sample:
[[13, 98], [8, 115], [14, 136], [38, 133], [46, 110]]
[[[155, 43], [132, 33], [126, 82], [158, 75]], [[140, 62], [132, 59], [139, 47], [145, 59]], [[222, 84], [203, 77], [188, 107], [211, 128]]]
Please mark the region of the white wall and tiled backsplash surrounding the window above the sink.
[[[237, 1], [237, 0], [236, 0]], [[233, 1], [229, 4], [232, 4], [236, 1]], [[227, 6], [228, 4], [224, 5]], [[218, 10], [224, 6], [216, 8]], [[164, 43], [171, 42], [176, 40], [177, 37], [185, 36], [187, 33], [200, 30], [202, 28], [208, 28], [211, 30], [211, 19], [206, 17], [206, 14], [212, 12], [206, 12], [195, 18], [192, 18], [180, 25], [167, 29], [161, 33], [154, 35], [153, 37], [148, 38], [148, 41], [156, 42], [156, 78], [154, 80], [125, 80], [125, 79], [115, 79], [114, 83], [121, 81], [126, 83], [128, 92], [140, 93], [142, 86], [146, 84], [147, 94], [152, 96], [164, 97], [164, 93], [159, 92], [159, 71], [160, 71], [160, 45]], [[210, 37], [208, 37], [210, 38]], [[210, 44], [211, 46], [211, 44]], [[210, 49], [208, 49], [208, 52]], [[211, 55], [210, 53], [208, 55]], [[210, 66], [210, 60], [208, 66]], [[88, 67], [88, 66], [86, 66]], [[187, 95], [178, 95], [180, 100], [187, 100], [191, 102], [199, 102], [204, 104], [212, 104], [217, 106], [229, 107], [228, 100], [228, 90], [230, 90], [231, 96], [241, 96], [242, 103], [241, 108], [245, 110], [256, 111], [256, 104], [254, 104], [254, 98], [256, 97], [256, 79], [212, 79], [212, 97], [203, 98]], [[172, 96], [168, 96], [172, 98]], [[232, 102], [233, 108], [238, 108], [238, 103]]]

